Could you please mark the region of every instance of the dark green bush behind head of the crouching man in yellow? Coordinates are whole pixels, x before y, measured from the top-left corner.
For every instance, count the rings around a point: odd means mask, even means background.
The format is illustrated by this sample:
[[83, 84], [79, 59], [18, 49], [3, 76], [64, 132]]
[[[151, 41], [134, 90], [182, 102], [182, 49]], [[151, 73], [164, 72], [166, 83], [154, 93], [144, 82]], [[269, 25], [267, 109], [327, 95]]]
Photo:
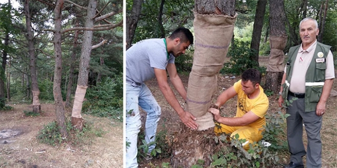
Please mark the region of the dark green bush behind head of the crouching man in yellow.
[[234, 43], [235, 47], [232, 47], [228, 52], [228, 55], [231, 56], [230, 62], [224, 63], [224, 67], [220, 70], [220, 73], [240, 75], [248, 68], [258, 69], [261, 73], [266, 71], [265, 68], [258, 67], [257, 62], [251, 59], [256, 51], [252, 51], [249, 48], [249, 41], [235, 40]]

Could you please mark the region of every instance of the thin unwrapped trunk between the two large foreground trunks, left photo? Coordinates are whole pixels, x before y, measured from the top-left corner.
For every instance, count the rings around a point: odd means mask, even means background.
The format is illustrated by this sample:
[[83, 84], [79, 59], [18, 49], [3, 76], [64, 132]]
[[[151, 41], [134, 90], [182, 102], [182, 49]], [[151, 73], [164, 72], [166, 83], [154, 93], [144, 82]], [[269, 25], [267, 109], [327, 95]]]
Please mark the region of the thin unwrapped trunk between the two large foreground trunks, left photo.
[[[79, 26], [79, 22], [76, 21], [76, 27]], [[77, 45], [78, 45], [78, 38], [79, 38], [79, 31], [75, 31], [74, 36], [74, 44], [73, 44], [73, 51], [71, 52], [71, 60], [70, 60], [70, 69], [69, 69], [69, 78], [68, 78], [68, 86], [67, 86], [67, 95], [65, 100], [65, 106], [70, 107], [71, 106], [71, 89], [73, 88], [73, 78], [74, 78], [74, 69], [75, 69], [75, 63], [76, 63], [76, 51], [77, 51]]]

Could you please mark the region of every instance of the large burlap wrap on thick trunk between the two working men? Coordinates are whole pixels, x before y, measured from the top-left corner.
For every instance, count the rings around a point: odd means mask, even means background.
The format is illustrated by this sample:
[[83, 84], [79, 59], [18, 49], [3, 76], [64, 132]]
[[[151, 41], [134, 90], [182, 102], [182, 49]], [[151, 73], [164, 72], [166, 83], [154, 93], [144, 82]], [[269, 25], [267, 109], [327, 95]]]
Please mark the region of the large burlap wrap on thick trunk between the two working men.
[[195, 52], [188, 79], [186, 110], [197, 118], [198, 130], [214, 126], [207, 109], [218, 87], [216, 74], [224, 64], [236, 16], [195, 13]]

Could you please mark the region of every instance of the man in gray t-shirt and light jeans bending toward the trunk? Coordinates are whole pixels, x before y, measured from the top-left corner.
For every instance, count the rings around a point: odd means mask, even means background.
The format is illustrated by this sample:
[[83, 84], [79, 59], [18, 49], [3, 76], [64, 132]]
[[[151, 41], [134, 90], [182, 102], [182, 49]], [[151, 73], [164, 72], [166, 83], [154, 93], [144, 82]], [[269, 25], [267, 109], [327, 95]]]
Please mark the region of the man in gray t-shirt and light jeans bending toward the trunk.
[[[197, 129], [198, 125], [188, 111], [185, 111], [167, 83], [167, 73], [175, 89], [186, 100], [186, 90], [177, 74], [175, 57], [185, 53], [193, 43], [193, 35], [188, 29], [178, 28], [165, 39], [147, 39], [134, 44], [126, 51], [126, 167], [137, 167], [137, 136], [141, 121], [139, 106], [147, 112], [145, 124], [145, 141], [155, 140], [157, 123], [161, 108], [144, 82], [156, 77], [160, 91], [167, 102], [179, 115], [180, 120], [189, 128]], [[155, 148], [149, 146], [148, 154]]]

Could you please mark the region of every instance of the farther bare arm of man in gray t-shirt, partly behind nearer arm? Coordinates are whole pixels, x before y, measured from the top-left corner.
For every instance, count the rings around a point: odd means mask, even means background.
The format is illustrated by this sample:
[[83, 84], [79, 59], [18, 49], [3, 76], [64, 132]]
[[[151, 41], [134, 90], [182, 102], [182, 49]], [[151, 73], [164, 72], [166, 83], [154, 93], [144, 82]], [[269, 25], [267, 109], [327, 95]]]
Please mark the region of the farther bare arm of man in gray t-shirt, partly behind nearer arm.
[[176, 65], [172, 63], [168, 63], [166, 66], [166, 69], [167, 69], [168, 75], [170, 76], [170, 81], [172, 82], [174, 88], [176, 88], [180, 96], [186, 101], [187, 93], [177, 73]]

